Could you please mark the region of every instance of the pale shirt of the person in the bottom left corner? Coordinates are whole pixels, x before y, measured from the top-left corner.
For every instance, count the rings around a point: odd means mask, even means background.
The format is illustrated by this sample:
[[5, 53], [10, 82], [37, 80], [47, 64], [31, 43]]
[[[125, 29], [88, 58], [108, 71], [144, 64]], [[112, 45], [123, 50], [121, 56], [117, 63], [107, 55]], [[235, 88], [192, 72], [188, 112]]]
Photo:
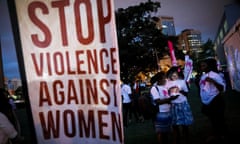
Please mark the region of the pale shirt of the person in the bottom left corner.
[[0, 144], [7, 144], [8, 139], [17, 136], [17, 131], [8, 118], [0, 112]]

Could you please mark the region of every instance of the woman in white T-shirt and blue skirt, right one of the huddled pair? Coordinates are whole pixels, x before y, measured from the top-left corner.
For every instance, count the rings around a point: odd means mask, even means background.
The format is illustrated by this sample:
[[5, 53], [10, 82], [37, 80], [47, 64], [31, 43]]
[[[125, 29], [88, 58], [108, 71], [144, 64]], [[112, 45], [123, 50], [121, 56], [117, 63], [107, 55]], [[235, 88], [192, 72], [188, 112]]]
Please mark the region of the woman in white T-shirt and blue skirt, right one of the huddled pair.
[[[182, 78], [180, 67], [172, 67], [167, 72], [167, 88], [171, 97], [177, 98], [171, 101], [171, 114], [173, 126], [173, 143], [183, 141], [188, 144], [189, 125], [193, 123], [193, 115], [187, 100], [188, 86]], [[181, 140], [181, 133], [183, 140]]]

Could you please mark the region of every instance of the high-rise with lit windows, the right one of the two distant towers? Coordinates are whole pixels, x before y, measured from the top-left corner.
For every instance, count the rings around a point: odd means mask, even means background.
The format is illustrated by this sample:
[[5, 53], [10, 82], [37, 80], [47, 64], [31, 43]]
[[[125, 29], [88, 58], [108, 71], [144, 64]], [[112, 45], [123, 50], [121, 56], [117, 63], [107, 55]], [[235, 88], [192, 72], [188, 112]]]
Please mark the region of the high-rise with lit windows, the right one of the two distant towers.
[[188, 53], [191, 57], [198, 58], [202, 52], [201, 32], [194, 29], [185, 29], [178, 36], [179, 50]]

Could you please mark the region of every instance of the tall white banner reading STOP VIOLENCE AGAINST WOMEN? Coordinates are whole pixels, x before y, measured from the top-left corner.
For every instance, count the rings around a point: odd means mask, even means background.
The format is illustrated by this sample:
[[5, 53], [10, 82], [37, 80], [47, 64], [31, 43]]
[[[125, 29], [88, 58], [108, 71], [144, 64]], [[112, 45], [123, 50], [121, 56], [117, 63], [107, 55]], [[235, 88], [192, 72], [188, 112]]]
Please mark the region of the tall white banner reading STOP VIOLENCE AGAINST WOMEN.
[[123, 143], [112, 0], [16, 0], [39, 144]]

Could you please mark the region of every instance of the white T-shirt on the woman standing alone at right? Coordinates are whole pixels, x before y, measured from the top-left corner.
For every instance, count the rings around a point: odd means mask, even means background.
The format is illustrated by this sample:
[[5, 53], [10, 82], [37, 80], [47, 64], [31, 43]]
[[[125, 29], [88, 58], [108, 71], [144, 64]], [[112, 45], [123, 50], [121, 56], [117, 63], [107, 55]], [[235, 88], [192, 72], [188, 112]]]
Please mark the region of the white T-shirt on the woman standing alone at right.
[[200, 96], [202, 102], [206, 105], [209, 104], [215, 98], [215, 96], [217, 96], [220, 93], [213, 83], [205, 81], [207, 77], [212, 78], [218, 84], [222, 85], [224, 87], [224, 91], [226, 89], [225, 80], [220, 74], [213, 71], [203, 74], [199, 81]]

